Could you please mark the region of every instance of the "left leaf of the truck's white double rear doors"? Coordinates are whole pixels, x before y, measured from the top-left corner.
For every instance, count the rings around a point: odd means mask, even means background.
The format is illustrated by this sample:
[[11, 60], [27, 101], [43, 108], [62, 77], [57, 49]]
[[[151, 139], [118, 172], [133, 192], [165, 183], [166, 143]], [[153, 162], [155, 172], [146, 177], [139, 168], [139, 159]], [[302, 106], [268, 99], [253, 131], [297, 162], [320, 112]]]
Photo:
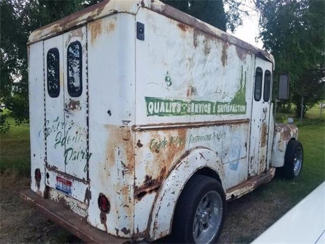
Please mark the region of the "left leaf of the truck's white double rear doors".
[[61, 138], [65, 134], [62, 41], [62, 35], [44, 41], [45, 121], [43, 123], [45, 123], [46, 166], [49, 169], [65, 172], [66, 167], [62, 163], [64, 162], [64, 144], [61, 143]]

